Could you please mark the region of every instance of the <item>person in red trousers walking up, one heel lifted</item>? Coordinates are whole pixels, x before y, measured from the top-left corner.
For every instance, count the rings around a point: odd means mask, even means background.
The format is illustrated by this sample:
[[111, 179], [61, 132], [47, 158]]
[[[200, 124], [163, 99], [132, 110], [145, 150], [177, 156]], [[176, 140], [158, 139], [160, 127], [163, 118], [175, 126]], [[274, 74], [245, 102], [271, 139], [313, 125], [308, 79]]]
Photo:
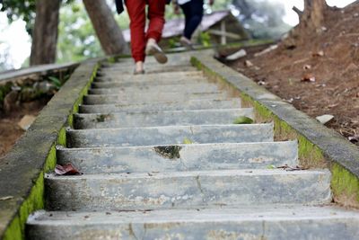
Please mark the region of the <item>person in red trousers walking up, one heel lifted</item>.
[[[166, 0], [126, 0], [125, 4], [130, 19], [132, 58], [136, 63], [134, 74], [144, 74], [146, 55], [153, 55], [161, 64], [167, 62], [166, 55], [157, 44], [162, 38]], [[145, 32], [146, 4], [148, 4], [149, 24]], [[116, 0], [116, 6], [118, 13], [122, 13], [124, 10], [122, 0]]]

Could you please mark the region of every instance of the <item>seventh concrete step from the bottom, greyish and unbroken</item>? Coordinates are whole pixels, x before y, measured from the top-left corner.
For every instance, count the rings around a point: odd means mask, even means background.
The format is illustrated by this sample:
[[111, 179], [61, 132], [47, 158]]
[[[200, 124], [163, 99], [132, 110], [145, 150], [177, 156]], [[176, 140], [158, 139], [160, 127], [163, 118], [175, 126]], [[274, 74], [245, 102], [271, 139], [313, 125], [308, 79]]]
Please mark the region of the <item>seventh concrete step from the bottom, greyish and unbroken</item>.
[[104, 95], [87, 95], [83, 97], [84, 104], [109, 104], [109, 103], [141, 103], [141, 102], [181, 102], [195, 99], [228, 99], [227, 93], [144, 93], [138, 95], [120, 95], [120, 94], [104, 94]]

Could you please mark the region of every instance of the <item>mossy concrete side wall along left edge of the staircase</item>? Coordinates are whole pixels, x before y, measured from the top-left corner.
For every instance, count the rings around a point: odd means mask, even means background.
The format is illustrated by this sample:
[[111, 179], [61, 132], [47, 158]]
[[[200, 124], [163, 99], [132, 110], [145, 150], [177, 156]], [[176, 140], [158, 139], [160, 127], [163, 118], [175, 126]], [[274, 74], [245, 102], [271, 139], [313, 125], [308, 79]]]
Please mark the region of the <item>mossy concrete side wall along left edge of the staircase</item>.
[[43, 207], [43, 185], [35, 183], [45, 171], [45, 166], [51, 164], [47, 160], [55, 163], [55, 159], [47, 159], [51, 147], [57, 144], [60, 129], [67, 126], [67, 118], [73, 113], [74, 104], [89, 83], [95, 66], [96, 63], [89, 62], [78, 67], [41, 111], [31, 128], [13, 146], [13, 150], [2, 159], [0, 199], [10, 199], [0, 200], [0, 239], [12, 224], [11, 235], [15, 238], [22, 236], [26, 214]]

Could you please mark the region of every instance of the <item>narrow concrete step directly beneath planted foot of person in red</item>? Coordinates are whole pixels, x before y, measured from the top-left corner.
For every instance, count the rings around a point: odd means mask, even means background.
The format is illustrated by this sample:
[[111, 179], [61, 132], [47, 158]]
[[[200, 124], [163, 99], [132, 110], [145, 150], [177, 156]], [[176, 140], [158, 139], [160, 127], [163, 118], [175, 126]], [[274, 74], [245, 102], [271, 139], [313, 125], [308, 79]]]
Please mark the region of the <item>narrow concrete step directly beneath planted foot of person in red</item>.
[[[201, 71], [187, 71], [187, 72], [170, 72], [170, 73], [158, 73], [155, 75], [133, 75], [133, 74], [107, 74], [98, 73], [95, 78], [95, 82], [147, 82], [151, 83], [157, 79], [173, 80], [173, 79], [188, 79], [189, 78], [201, 78], [206, 81]], [[207, 81], [206, 81], [207, 82]]]

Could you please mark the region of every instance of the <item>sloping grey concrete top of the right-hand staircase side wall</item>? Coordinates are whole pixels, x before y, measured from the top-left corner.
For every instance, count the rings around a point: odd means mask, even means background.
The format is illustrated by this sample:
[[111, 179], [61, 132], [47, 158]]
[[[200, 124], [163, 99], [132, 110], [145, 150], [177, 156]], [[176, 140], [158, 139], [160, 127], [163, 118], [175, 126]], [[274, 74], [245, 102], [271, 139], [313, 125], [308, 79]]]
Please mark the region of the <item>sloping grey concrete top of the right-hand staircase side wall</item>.
[[312, 144], [320, 147], [322, 154], [332, 162], [343, 166], [359, 179], [359, 150], [358, 147], [349, 143], [346, 138], [332, 129], [328, 129], [317, 120], [312, 120], [302, 111], [297, 111], [289, 103], [283, 102], [276, 95], [269, 93], [265, 88], [242, 76], [230, 67], [211, 58], [208, 53], [194, 56], [197, 60], [214, 73], [222, 76], [225, 81], [235, 88], [250, 96], [254, 101], [272, 111], [280, 120], [285, 121]]

